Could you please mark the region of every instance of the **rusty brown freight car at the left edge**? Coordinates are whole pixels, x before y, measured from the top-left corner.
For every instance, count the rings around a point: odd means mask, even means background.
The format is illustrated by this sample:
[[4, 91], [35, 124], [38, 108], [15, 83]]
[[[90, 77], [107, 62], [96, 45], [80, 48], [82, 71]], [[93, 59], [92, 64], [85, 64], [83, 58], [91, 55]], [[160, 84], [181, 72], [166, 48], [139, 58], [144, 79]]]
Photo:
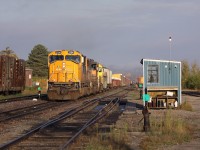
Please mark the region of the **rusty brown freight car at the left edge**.
[[20, 93], [25, 88], [25, 61], [0, 55], [0, 94]]

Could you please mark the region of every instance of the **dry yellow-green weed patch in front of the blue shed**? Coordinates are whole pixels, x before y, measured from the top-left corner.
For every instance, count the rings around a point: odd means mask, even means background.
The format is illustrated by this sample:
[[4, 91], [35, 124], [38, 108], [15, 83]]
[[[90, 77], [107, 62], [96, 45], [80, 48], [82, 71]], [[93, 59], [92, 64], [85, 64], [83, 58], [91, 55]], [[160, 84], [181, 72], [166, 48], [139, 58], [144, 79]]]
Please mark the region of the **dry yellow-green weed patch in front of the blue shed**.
[[151, 132], [140, 147], [142, 149], [155, 149], [165, 145], [173, 145], [190, 140], [189, 125], [182, 119], [174, 118], [171, 110], [164, 117], [151, 120]]

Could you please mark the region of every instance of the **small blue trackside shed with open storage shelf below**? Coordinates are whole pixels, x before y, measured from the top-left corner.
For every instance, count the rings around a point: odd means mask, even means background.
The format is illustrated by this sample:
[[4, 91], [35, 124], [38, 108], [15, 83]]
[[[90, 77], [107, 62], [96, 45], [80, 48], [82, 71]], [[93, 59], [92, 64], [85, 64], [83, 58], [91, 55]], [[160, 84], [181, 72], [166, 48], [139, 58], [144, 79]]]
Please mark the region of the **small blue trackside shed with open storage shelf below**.
[[[174, 108], [181, 104], [181, 62], [142, 59], [143, 94], [149, 108]], [[144, 103], [145, 105], [145, 103]]]

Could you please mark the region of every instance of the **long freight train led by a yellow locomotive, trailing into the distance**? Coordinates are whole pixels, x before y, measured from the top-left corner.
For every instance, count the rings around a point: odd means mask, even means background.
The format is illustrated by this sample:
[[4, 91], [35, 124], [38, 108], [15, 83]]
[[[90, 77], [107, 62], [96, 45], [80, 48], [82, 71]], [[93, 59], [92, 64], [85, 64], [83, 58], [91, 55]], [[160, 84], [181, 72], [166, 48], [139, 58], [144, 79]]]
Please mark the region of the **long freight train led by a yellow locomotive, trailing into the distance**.
[[[49, 100], [75, 100], [79, 97], [102, 92], [112, 88], [112, 71], [102, 64], [89, 59], [79, 51], [56, 50], [48, 55]], [[120, 74], [117, 84], [130, 84]], [[129, 81], [129, 82], [128, 82]]]

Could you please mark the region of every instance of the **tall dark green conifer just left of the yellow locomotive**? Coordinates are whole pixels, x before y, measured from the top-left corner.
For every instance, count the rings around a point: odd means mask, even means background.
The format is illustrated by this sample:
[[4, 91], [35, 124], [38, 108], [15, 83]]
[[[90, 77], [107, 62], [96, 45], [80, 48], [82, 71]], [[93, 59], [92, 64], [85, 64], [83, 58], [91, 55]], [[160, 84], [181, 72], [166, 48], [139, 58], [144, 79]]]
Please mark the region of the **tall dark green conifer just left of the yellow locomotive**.
[[45, 46], [38, 44], [34, 46], [26, 61], [27, 67], [33, 69], [33, 76], [48, 76], [48, 50]]

